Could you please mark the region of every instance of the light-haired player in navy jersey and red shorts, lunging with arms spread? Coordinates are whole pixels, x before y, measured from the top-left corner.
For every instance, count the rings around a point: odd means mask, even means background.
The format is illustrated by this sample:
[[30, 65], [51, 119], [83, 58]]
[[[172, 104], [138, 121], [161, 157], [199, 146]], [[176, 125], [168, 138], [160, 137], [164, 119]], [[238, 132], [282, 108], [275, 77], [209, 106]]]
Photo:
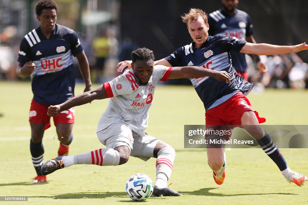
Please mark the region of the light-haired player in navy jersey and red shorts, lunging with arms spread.
[[[243, 77], [234, 72], [230, 51], [272, 55], [299, 52], [308, 49], [308, 45], [305, 43], [293, 46], [254, 44], [236, 37], [213, 37], [208, 35], [209, 24], [207, 14], [204, 11], [193, 8], [189, 10], [188, 14], [181, 17], [193, 42], [180, 47], [168, 57], [155, 61], [154, 64], [165, 66], [197, 65], [204, 69], [228, 72], [231, 75], [230, 84], [215, 81], [212, 77], [191, 79], [206, 110], [206, 127], [208, 129], [225, 129], [223, 125], [231, 125], [231, 128], [244, 128], [258, 141], [264, 152], [275, 162], [286, 180], [302, 186], [307, 181], [306, 175], [298, 174], [287, 166], [286, 160], [277, 146], [259, 126], [259, 123], [265, 122], [265, 118], [259, 117], [245, 97], [252, 89], [253, 84], [245, 81]], [[120, 62], [118, 71], [124, 69], [129, 63], [129, 61]], [[229, 137], [224, 136], [225, 140], [229, 140]], [[226, 168], [224, 148], [207, 149], [207, 155], [215, 182], [222, 184], [225, 179]]]

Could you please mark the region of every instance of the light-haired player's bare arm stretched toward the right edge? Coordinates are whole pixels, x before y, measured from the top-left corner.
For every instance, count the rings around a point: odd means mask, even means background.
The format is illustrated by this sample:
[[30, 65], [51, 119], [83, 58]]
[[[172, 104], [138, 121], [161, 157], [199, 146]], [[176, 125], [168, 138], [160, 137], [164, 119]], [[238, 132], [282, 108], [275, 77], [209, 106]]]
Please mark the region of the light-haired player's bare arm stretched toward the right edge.
[[257, 54], [257, 55], [274, 55], [281, 53], [297, 53], [302, 50], [307, 50], [308, 45], [301, 43], [298, 45], [272, 45], [267, 43], [246, 43], [241, 49], [241, 53]]

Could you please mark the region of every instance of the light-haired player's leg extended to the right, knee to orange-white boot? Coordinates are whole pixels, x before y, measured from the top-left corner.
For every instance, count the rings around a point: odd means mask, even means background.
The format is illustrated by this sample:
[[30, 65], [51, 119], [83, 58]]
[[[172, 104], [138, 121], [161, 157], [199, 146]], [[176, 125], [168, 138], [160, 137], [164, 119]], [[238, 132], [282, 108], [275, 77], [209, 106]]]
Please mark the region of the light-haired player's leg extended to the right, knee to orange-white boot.
[[263, 151], [275, 162], [286, 180], [291, 183], [295, 183], [298, 186], [302, 186], [307, 181], [306, 175], [298, 174], [292, 171], [286, 163], [282, 153], [277, 145], [270, 138], [270, 135], [266, 133], [257, 120], [256, 114], [253, 111], [246, 111], [241, 117], [242, 127], [257, 140]]

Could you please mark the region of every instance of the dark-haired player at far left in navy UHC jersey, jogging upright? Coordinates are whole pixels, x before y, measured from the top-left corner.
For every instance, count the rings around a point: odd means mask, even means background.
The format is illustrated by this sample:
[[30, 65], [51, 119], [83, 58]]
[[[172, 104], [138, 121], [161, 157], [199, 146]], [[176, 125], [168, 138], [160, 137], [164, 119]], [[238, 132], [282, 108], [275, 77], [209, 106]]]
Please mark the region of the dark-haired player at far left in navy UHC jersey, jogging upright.
[[[22, 39], [18, 54], [16, 73], [19, 77], [33, 75], [34, 94], [29, 113], [31, 127], [30, 152], [37, 177], [32, 183], [46, 181], [41, 174], [44, 147], [42, 139], [45, 129], [50, 127], [47, 116], [49, 105], [59, 104], [74, 96], [75, 75], [72, 55], [77, 57], [86, 88], [91, 90], [89, 63], [75, 31], [56, 24], [58, 6], [52, 0], [39, 1], [35, 6], [36, 18], [40, 26]], [[73, 140], [72, 128], [75, 110], [70, 108], [54, 117], [54, 124], [60, 148], [58, 155], [68, 153], [68, 145]]]

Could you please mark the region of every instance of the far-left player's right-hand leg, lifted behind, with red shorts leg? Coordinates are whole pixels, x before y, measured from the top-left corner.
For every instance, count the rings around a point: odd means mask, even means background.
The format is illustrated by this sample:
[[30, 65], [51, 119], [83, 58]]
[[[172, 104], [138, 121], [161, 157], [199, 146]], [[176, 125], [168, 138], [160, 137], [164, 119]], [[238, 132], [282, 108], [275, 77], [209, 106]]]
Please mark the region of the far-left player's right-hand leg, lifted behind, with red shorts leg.
[[64, 110], [58, 116], [54, 117], [54, 124], [60, 141], [58, 156], [67, 156], [69, 145], [73, 140], [73, 126], [75, 123], [75, 108]]

